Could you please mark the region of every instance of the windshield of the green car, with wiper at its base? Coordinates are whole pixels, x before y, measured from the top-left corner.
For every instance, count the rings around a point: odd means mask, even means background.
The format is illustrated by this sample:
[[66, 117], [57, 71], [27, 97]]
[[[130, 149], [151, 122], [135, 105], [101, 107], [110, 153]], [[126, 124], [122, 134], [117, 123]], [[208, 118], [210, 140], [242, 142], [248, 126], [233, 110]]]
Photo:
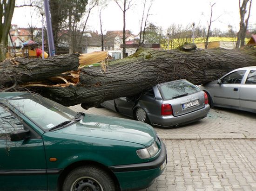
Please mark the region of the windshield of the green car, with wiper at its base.
[[77, 115], [73, 110], [35, 94], [16, 96], [8, 102], [46, 131]]

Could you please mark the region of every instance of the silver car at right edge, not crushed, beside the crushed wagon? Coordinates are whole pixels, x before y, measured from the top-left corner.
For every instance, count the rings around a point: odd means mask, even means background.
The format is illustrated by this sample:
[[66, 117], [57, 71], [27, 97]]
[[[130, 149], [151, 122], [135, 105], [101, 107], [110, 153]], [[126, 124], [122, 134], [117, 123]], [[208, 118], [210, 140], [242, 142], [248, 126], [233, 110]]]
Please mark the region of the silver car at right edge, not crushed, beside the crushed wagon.
[[211, 107], [256, 113], [256, 66], [233, 70], [200, 88], [207, 93]]

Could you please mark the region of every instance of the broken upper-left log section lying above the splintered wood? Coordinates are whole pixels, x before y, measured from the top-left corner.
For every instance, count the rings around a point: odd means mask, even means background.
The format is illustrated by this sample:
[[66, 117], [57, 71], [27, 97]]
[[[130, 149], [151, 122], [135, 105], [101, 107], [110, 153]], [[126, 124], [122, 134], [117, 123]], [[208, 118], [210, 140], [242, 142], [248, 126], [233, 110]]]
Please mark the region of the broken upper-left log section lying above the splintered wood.
[[0, 89], [13, 83], [41, 82], [63, 72], [78, 70], [79, 54], [60, 55], [48, 59], [16, 58], [0, 63]]

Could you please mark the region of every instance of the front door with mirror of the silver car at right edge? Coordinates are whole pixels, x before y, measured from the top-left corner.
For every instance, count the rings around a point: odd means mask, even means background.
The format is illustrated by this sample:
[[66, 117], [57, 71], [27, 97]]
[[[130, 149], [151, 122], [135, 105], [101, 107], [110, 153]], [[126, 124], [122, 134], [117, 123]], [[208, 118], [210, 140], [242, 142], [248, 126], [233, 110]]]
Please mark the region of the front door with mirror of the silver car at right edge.
[[221, 84], [213, 89], [215, 104], [239, 107], [239, 91], [246, 70], [238, 70], [224, 76]]

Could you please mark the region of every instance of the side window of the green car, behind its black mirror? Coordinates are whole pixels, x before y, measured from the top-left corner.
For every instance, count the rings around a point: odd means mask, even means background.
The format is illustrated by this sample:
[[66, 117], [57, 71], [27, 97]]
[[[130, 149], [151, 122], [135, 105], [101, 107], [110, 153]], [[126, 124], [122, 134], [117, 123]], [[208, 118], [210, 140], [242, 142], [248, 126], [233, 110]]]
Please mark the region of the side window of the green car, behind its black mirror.
[[12, 131], [19, 129], [24, 129], [22, 122], [0, 105], [0, 139], [6, 139]]

